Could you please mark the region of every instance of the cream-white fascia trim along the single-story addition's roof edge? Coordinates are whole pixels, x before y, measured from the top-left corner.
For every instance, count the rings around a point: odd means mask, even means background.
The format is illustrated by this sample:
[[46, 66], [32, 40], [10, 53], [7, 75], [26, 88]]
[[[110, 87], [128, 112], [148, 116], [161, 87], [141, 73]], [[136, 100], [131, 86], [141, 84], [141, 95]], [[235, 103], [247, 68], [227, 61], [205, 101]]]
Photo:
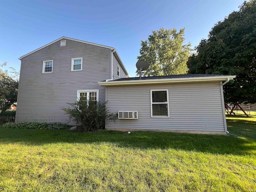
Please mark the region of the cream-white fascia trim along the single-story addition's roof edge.
[[209, 82], [225, 81], [236, 78], [236, 76], [215, 76], [215, 77], [191, 77], [191, 78], [171, 78], [171, 79], [148, 79], [148, 80], [128, 80], [128, 81], [109, 81], [98, 82], [100, 86], [108, 85], [134, 85], [134, 84], [157, 84], [157, 83], [180, 83], [180, 82]]

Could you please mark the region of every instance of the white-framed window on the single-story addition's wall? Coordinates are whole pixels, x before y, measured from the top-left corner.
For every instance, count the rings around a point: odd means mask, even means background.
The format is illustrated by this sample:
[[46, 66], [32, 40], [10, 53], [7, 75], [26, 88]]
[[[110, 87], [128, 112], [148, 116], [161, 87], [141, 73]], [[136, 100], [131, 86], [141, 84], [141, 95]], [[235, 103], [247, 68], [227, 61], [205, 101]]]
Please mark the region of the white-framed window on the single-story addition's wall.
[[150, 90], [151, 117], [169, 117], [168, 90]]

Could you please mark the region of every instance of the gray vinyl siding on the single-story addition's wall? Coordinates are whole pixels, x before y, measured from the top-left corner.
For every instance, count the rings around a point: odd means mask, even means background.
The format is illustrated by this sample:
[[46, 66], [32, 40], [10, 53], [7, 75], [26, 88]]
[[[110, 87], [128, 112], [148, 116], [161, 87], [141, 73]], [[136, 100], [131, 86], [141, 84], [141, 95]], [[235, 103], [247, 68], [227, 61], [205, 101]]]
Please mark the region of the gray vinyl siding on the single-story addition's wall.
[[[151, 117], [150, 90], [168, 89], [170, 117]], [[108, 86], [108, 110], [138, 111], [138, 119], [107, 122], [110, 129], [225, 131], [220, 82]]]

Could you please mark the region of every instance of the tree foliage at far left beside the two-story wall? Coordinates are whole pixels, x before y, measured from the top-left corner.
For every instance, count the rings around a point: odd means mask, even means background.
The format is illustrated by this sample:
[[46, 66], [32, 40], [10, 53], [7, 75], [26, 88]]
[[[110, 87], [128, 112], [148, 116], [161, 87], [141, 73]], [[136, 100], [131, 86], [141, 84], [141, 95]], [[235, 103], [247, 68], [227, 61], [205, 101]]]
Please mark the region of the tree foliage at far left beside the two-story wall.
[[[6, 63], [1, 64], [6, 66]], [[18, 80], [14, 80], [7, 70], [0, 69], [0, 110], [6, 111], [17, 101]]]

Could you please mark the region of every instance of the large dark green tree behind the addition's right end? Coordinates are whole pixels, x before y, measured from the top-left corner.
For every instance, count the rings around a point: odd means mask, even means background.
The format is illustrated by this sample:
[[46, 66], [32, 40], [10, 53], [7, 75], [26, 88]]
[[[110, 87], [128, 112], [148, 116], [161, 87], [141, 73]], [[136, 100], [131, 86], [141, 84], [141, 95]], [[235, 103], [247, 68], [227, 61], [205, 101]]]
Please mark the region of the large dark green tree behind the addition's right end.
[[256, 103], [256, 1], [244, 2], [212, 28], [187, 62], [188, 73], [228, 74], [228, 103]]

